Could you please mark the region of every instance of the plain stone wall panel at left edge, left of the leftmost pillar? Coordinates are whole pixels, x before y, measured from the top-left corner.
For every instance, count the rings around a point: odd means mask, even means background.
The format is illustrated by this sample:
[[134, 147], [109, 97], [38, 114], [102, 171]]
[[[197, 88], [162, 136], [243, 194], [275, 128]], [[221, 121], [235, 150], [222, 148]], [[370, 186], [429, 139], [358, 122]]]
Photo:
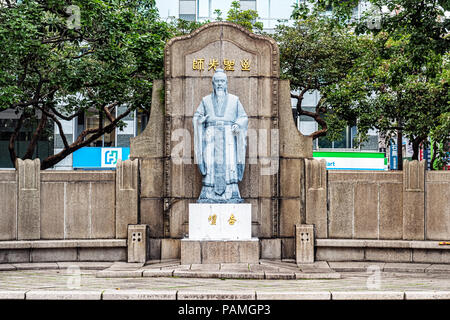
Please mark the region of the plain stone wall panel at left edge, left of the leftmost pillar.
[[[0, 176], [0, 179], [2, 176]], [[0, 180], [0, 240], [14, 240], [17, 237], [17, 183]]]

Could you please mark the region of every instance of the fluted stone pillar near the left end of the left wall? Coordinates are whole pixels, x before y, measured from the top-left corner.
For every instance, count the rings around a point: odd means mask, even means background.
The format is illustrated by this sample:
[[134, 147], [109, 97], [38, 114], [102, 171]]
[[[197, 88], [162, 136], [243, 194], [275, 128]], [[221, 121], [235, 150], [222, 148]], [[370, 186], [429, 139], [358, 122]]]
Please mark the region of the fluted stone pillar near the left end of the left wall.
[[16, 161], [17, 239], [41, 237], [41, 162], [39, 159]]

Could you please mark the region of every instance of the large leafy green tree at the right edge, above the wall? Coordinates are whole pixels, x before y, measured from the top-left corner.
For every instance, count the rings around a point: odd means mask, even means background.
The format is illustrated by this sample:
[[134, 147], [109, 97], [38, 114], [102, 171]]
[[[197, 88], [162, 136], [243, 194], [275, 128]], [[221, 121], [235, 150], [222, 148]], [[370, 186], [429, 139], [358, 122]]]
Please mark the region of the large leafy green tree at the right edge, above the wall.
[[[331, 2], [336, 9], [334, 14], [350, 21], [351, 1], [345, 5]], [[441, 114], [450, 111], [449, 20], [444, 15], [448, 2], [370, 2], [374, 10], [368, 11], [361, 21], [351, 23], [358, 34], [372, 35], [373, 50], [366, 54], [362, 68], [354, 69], [329, 93], [330, 100], [347, 101], [340, 116], [356, 115], [362, 135], [370, 128], [387, 137], [395, 133], [399, 146], [406, 135], [413, 145], [413, 159], [418, 159], [419, 146], [428, 143]], [[369, 23], [374, 12], [380, 22], [377, 27]], [[360, 91], [358, 99], [348, 94], [355, 88]], [[401, 164], [399, 153], [400, 170]]]

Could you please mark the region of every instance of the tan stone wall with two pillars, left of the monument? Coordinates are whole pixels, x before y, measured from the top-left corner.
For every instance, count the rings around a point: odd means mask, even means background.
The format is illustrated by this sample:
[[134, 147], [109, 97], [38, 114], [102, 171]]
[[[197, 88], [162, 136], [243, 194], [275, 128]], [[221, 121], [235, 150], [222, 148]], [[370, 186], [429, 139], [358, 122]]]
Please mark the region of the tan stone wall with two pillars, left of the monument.
[[16, 171], [0, 171], [0, 240], [126, 239], [138, 218], [137, 174], [137, 161], [117, 171], [41, 171], [38, 159], [18, 160]]

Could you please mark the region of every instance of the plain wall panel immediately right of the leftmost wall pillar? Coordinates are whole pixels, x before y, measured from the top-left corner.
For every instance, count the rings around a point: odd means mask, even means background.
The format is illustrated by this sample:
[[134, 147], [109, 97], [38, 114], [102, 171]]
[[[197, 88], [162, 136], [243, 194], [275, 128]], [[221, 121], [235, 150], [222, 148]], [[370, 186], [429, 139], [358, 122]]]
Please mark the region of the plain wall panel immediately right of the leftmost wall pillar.
[[41, 183], [41, 239], [64, 239], [64, 182]]

